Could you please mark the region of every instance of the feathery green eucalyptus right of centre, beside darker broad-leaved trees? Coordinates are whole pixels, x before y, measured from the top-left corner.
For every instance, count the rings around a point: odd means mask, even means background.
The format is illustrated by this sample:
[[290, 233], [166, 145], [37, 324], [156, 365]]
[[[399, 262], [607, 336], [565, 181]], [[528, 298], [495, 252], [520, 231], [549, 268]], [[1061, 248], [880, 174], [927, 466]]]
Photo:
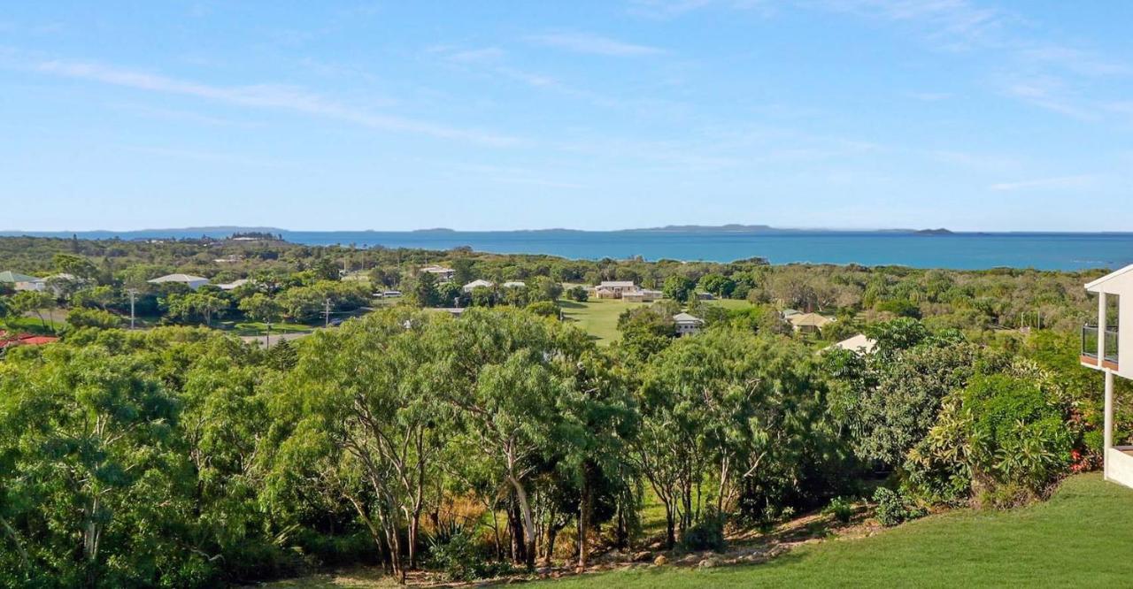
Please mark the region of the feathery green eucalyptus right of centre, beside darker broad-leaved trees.
[[[741, 484], [798, 471], [825, 421], [825, 384], [786, 339], [709, 330], [653, 358], [641, 386], [632, 456], [665, 506], [666, 540], [704, 513], [729, 513]], [[704, 484], [715, 478], [715, 488]]]

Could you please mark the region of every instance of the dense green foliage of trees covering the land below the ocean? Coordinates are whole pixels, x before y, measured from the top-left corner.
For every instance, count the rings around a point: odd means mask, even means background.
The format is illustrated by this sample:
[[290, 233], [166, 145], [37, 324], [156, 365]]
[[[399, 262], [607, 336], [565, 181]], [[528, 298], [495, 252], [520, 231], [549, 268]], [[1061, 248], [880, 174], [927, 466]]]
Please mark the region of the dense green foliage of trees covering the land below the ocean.
[[[74, 276], [0, 294], [19, 328], [69, 313], [59, 343], [0, 358], [5, 586], [585, 566], [651, 541], [722, 549], [731, 531], [827, 505], [849, 520], [854, 497], [872, 497], [885, 524], [929, 505], [1012, 506], [1100, 451], [1098, 383], [1071, 331], [1091, 308], [1077, 274], [204, 240], [0, 240], [0, 261]], [[438, 282], [426, 263], [458, 276]], [[249, 282], [144, 282], [174, 270]], [[501, 284], [465, 292], [472, 279]], [[615, 279], [671, 299], [624, 313], [621, 341], [598, 345], [556, 301], [587, 298], [563, 282]], [[363, 315], [373, 290], [395, 287], [398, 305], [269, 349], [204, 327], [322, 325], [327, 308]], [[189, 325], [122, 330], [129, 288], [152, 323]], [[729, 310], [700, 291], [752, 304]], [[472, 308], [423, 308], [446, 298]], [[1005, 328], [1031, 321], [1016, 315], [1028, 305], [1042, 328]], [[786, 307], [836, 325], [794, 333]], [[675, 338], [681, 310], [705, 331]], [[875, 351], [824, 349], [859, 330]], [[1119, 404], [1118, 439], [1131, 422]]]

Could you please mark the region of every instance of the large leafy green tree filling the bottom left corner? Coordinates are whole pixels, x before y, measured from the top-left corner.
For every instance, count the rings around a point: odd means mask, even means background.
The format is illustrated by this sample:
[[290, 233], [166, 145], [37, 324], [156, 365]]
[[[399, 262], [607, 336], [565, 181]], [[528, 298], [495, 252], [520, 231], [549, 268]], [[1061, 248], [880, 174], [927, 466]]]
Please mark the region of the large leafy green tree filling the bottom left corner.
[[165, 513], [159, 504], [179, 467], [169, 445], [176, 403], [147, 362], [97, 345], [54, 348], [0, 378], [0, 528], [18, 566], [67, 586], [150, 584], [159, 555], [176, 552], [152, 535], [176, 518], [176, 500]]

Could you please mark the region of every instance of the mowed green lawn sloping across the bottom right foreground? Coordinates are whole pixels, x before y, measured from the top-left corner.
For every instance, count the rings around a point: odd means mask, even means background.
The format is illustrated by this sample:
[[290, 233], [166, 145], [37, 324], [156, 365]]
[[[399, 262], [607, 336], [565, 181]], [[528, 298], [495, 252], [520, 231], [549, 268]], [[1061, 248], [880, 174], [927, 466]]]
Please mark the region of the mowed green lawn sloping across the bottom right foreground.
[[665, 587], [1126, 587], [1133, 489], [1098, 473], [1045, 503], [957, 510], [862, 539], [807, 545], [758, 565], [637, 569], [536, 583], [545, 589]]

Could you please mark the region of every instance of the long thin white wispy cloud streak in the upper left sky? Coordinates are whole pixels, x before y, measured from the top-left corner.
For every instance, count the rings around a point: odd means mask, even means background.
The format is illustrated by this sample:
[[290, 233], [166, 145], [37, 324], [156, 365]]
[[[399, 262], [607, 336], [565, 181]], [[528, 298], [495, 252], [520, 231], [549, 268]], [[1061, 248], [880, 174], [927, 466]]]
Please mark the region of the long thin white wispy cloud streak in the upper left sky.
[[460, 139], [492, 146], [511, 146], [520, 143], [519, 139], [504, 135], [357, 109], [295, 86], [273, 84], [218, 86], [100, 63], [61, 60], [33, 62], [26, 65], [24, 69], [147, 92], [195, 96], [239, 106], [290, 111], [372, 129]]

